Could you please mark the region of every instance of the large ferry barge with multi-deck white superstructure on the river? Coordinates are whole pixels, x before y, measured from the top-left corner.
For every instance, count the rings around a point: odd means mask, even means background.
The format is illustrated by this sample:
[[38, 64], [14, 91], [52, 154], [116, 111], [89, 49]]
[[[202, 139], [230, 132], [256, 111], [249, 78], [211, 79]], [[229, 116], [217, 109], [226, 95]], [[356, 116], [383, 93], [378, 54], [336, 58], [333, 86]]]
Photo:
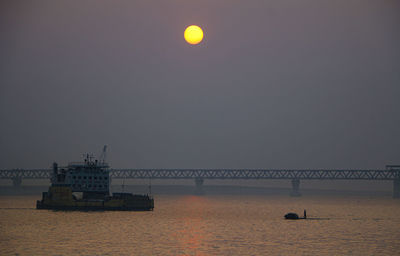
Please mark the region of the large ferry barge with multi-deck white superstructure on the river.
[[152, 211], [150, 195], [113, 193], [110, 195], [109, 166], [86, 156], [84, 162], [65, 168], [53, 164], [51, 185], [36, 202], [36, 209], [78, 211]]

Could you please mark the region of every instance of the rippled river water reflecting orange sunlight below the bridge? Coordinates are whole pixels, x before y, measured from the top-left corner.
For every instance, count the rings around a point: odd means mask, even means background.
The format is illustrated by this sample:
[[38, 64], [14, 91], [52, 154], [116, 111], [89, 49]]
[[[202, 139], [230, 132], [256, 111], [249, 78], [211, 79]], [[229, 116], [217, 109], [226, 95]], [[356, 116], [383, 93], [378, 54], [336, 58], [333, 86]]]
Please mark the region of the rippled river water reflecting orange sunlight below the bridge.
[[[0, 197], [0, 255], [400, 254], [391, 198], [156, 196], [153, 212], [38, 211], [38, 198]], [[325, 219], [282, 217], [304, 208]]]

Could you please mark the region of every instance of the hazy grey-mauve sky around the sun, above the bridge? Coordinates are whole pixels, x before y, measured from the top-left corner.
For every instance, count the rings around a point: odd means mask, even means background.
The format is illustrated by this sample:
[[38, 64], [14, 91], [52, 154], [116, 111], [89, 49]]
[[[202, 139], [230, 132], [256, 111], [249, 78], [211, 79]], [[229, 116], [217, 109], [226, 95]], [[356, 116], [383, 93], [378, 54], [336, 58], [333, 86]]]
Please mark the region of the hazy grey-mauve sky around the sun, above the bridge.
[[0, 168], [104, 144], [116, 168], [399, 164], [400, 1], [1, 1]]

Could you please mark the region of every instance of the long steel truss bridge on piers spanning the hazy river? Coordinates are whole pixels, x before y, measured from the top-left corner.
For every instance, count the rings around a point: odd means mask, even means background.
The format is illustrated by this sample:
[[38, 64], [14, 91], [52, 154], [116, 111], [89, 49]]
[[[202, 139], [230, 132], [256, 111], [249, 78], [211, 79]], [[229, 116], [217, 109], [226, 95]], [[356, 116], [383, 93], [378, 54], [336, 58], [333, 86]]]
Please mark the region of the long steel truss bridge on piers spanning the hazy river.
[[[20, 186], [23, 179], [50, 179], [51, 169], [0, 170], [0, 179]], [[280, 169], [110, 169], [113, 179], [192, 179], [201, 191], [205, 179], [291, 180], [292, 196], [300, 196], [300, 180], [393, 181], [393, 197], [400, 198], [400, 166], [384, 170], [280, 170]]]

